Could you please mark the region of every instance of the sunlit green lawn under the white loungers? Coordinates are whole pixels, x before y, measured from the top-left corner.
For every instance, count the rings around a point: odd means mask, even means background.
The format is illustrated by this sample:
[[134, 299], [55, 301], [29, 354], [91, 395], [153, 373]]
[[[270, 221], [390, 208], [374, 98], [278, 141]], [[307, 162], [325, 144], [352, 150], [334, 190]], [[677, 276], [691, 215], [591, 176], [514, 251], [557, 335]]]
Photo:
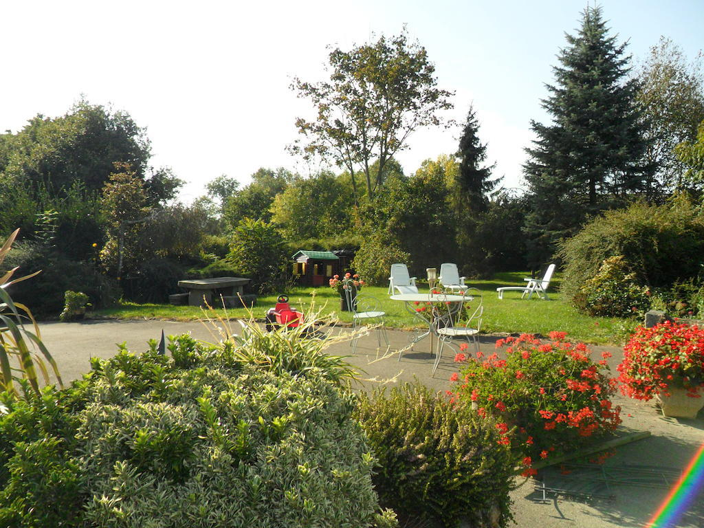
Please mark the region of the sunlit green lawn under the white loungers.
[[[469, 281], [473, 287], [484, 292], [484, 323], [485, 333], [529, 333], [547, 335], [552, 330], [567, 332], [571, 339], [586, 341], [591, 344], [621, 344], [624, 337], [638, 324], [639, 320], [623, 320], [617, 318], [592, 318], [579, 313], [575, 308], [565, 303], [557, 293], [560, 278], [551, 282], [548, 294], [551, 301], [541, 301], [532, 298], [530, 301], [520, 298], [520, 292], [508, 291], [503, 300], [498, 298], [496, 288], [524, 284], [523, 272], [499, 273], [494, 279]], [[420, 287], [425, 291], [426, 287]], [[315, 294], [315, 306], [322, 308], [322, 313], [337, 313], [342, 322], [351, 322], [351, 315], [340, 311], [340, 299], [337, 292], [328, 288], [296, 288], [285, 292], [290, 297], [292, 306], [310, 313], [310, 301]], [[410, 329], [422, 324], [406, 311], [404, 303], [391, 301], [386, 287], [365, 287], [364, 294], [377, 298], [386, 312], [384, 325], [389, 328]], [[255, 318], [263, 319], [266, 310], [276, 303], [277, 294], [260, 296], [253, 309]], [[225, 310], [215, 310], [225, 315]], [[203, 318], [203, 310], [192, 306], [170, 306], [168, 304], [137, 304], [122, 303], [116, 308], [96, 310], [96, 315], [118, 319], [170, 319], [196, 320]], [[244, 308], [227, 310], [230, 318], [246, 318]]]

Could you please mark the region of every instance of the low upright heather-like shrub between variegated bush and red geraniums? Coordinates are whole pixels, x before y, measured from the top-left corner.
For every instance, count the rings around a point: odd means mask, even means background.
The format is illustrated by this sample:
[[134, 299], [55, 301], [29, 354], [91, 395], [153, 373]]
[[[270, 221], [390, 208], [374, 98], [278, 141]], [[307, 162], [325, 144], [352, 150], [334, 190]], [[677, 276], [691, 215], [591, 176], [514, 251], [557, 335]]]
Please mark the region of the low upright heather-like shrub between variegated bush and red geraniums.
[[493, 421], [417, 380], [388, 396], [384, 389], [360, 395], [358, 417], [379, 458], [374, 484], [382, 505], [445, 526], [463, 517], [508, 523], [514, 458]]

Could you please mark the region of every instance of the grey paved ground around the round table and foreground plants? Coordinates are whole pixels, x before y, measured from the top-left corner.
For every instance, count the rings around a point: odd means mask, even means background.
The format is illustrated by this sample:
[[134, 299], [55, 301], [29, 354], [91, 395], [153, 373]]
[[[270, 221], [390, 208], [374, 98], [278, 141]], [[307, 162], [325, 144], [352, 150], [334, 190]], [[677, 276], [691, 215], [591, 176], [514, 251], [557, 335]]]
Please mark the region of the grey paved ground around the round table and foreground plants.
[[[126, 341], [131, 351], [142, 352], [149, 339], [159, 339], [161, 330], [166, 335], [191, 332], [196, 339], [217, 341], [211, 327], [200, 322], [169, 322], [161, 320], [139, 321], [84, 321], [42, 323], [42, 337], [51, 354], [58, 362], [65, 382], [80, 377], [89, 370], [89, 358], [97, 356], [109, 358], [117, 351], [116, 344]], [[344, 330], [344, 329], [343, 329]], [[337, 331], [337, 330], [336, 330]], [[390, 330], [391, 350], [408, 345], [410, 332]], [[494, 350], [494, 337], [482, 337], [481, 346], [485, 352]], [[620, 348], [593, 347], [595, 351], [609, 350], [614, 354], [610, 361], [612, 372], [622, 358]], [[351, 353], [348, 344], [338, 344], [329, 349], [330, 353], [347, 356]], [[431, 377], [432, 355], [429, 341], [424, 339], [416, 344], [415, 350], [406, 351], [399, 362], [397, 356], [377, 360], [377, 339], [374, 335], [358, 341], [357, 353], [349, 358], [351, 363], [365, 371], [364, 379], [396, 379], [411, 381], [417, 376], [432, 389], [448, 389], [448, 381], [455, 372], [453, 354], [447, 353], [441, 361], [435, 377]], [[370, 389], [377, 382], [363, 382], [363, 388]], [[605, 467], [623, 464], [651, 465], [655, 468], [676, 468], [681, 470], [689, 462], [698, 446], [704, 443], [704, 411], [696, 420], [675, 420], [662, 417], [649, 403], [617, 397], [622, 406], [624, 432], [650, 431], [650, 438], [636, 441], [618, 448], [617, 455]], [[550, 484], [548, 482], [548, 484]], [[586, 527], [586, 528], [641, 528], [650, 515], [658, 509], [667, 496], [665, 488], [645, 488], [632, 485], [612, 486], [608, 494], [613, 498], [579, 499], [550, 498], [540, 502], [541, 494], [534, 492], [533, 481], [527, 481], [513, 491], [513, 512], [517, 527]], [[677, 524], [685, 528], [704, 527], [704, 496], [695, 501], [693, 508], [684, 520]]]

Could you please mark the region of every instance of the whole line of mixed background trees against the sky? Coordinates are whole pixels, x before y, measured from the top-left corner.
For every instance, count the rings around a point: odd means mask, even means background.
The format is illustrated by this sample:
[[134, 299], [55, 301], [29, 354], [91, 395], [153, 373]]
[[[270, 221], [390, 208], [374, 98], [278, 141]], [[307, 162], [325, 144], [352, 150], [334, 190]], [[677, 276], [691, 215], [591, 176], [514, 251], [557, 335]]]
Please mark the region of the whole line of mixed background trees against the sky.
[[566, 39], [543, 100], [551, 122], [531, 123], [523, 193], [494, 174], [474, 107], [455, 152], [413, 172], [398, 164], [415, 130], [452, 125], [453, 94], [404, 31], [333, 49], [329, 80], [291, 84], [313, 113], [296, 120], [289, 149], [337, 170], [260, 168], [244, 186], [222, 175], [184, 206], [182, 181], [149, 165], [149, 139], [130, 115], [80, 101], [0, 134], [0, 232], [21, 228], [25, 264], [91, 268], [112, 284], [96, 285], [101, 295], [142, 281], [163, 298], [165, 277], [225, 269], [264, 286], [286, 276], [296, 249], [354, 249], [377, 280], [398, 259], [417, 273], [445, 260], [470, 275], [540, 268], [605, 211], [681, 192], [698, 199], [704, 174], [701, 56], [688, 62], [661, 39], [634, 68], [601, 8], [586, 8]]

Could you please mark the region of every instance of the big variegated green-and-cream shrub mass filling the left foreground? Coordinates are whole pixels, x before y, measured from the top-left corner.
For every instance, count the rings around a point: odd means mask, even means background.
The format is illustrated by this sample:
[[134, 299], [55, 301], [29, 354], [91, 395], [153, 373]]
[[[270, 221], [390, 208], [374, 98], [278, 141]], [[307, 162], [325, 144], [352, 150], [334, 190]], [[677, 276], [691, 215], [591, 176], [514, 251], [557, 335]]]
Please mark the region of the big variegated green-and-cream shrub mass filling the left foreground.
[[[351, 417], [356, 398], [319, 366], [274, 372], [248, 363], [232, 341], [215, 348], [188, 336], [171, 340], [172, 358], [154, 348], [94, 359], [70, 389], [8, 402], [0, 519], [17, 527], [394, 526], [391, 513], [377, 513], [375, 459]], [[61, 475], [68, 487], [51, 498]], [[34, 519], [50, 505], [51, 522]]]

